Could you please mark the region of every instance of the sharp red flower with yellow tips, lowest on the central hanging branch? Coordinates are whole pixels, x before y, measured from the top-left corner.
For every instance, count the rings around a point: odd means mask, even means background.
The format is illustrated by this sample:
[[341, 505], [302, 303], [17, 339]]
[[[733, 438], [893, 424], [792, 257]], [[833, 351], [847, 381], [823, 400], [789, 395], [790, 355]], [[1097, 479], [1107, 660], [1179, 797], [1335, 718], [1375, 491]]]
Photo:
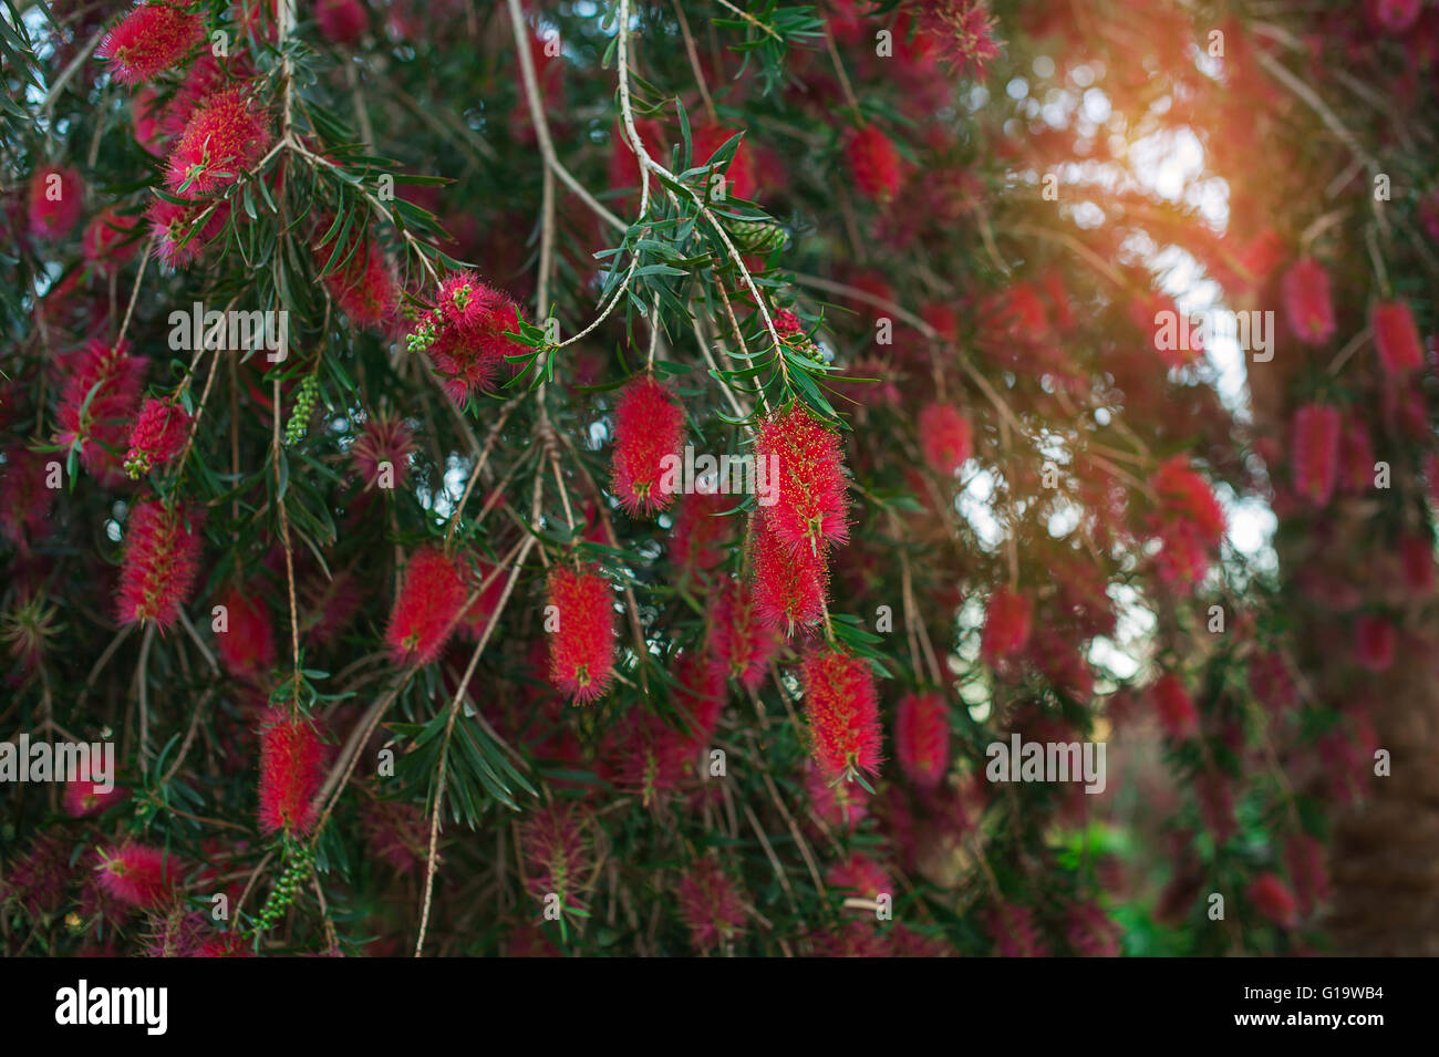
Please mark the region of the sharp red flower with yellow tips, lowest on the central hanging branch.
[[835, 778], [879, 769], [879, 700], [869, 663], [827, 646], [809, 651], [800, 664], [804, 715], [814, 761]]

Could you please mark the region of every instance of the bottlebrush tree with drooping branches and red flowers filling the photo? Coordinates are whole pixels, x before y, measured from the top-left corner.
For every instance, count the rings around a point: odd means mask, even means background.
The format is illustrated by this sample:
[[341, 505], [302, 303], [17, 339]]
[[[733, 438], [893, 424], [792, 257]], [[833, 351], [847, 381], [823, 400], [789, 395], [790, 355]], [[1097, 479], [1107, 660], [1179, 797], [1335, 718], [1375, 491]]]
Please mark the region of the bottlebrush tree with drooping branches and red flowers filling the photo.
[[1435, 952], [1433, 4], [4, 7], [7, 955]]

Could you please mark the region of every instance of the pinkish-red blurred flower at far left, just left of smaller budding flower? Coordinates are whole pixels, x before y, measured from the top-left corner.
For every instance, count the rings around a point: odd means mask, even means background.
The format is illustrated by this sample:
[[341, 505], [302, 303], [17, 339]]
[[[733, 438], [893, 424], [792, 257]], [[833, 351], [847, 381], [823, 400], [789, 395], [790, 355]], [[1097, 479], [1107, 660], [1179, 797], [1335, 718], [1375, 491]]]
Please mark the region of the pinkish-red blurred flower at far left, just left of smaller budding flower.
[[130, 440], [144, 374], [145, 361], [128, 355], [127, 345], [102, 341], [91, 341], [66, 365], [58, 440], [79, 441], [81, 462], [106, 488], [124, 480], [117, 452]]

